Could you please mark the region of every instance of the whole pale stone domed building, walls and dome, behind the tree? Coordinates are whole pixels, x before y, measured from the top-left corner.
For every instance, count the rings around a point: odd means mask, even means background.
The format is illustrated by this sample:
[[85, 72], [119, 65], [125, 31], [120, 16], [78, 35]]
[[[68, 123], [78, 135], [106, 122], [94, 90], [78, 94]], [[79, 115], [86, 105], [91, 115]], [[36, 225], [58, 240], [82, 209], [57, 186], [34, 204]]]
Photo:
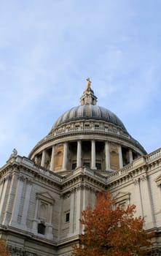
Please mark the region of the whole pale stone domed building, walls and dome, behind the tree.
[[61, 116], [29, 157], [14, 151], [1, 167], [0, 236], [12, 256], [71, 255], [81, 212], [103, 189], [122, 207], [136, 205], [155, 233], [149, 255], [161, 255], [161, 148], [146, 154], [96, 99], [88, 84], [82, 105]]

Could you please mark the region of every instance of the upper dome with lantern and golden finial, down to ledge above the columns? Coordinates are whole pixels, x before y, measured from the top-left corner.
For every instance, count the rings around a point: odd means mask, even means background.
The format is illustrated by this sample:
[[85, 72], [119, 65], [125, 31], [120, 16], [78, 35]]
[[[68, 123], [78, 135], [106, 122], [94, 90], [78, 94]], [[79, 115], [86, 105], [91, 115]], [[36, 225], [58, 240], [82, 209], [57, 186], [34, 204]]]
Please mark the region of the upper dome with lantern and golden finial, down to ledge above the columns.
[[[66, 111], [58, 118], [48, 135], [33, 148], [29, 158], [34, 159], [36, 155], [42, 154], [44, 148], [50, 150], [51, 146], [83, 138], [85, 140], [91, 138], [99, 140], [100, 138], [100, 140], [117, 142], [127, 148], [132, 148], [138, 152], [136, 154], [146, 154], [144, 148], [129, 135], [122, 121], [114, 113], [96, 105], [97, 97], [90, 88], [90, 83], [90, 79], [87, 79], [87, 88], [80, 98], [81, 104]], [[90, 125], [86, 127], [86, 124]]]

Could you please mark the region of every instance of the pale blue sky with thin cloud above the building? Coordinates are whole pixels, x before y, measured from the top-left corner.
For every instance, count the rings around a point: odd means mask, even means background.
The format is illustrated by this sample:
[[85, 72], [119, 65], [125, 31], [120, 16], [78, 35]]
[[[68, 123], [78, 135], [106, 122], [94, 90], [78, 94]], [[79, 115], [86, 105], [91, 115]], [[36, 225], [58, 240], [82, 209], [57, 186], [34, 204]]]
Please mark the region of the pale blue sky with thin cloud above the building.
[[28, 156], [92, 80], [148, 153], [161, 146], [160, 0], [0, 3], [0, 166]]

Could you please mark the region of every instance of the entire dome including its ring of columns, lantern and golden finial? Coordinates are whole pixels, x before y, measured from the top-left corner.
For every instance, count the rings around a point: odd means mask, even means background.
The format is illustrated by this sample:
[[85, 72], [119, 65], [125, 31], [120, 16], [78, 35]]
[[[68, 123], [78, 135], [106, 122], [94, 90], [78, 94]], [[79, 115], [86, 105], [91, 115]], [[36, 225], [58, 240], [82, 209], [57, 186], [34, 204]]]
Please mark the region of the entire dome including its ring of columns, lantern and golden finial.
[[63, 175], [81, 166], [111, 172], [146, 154], [114, 113], [96, 105], [90, 83], [80, 105], [63, 113], [29, 154], [36, 165]]

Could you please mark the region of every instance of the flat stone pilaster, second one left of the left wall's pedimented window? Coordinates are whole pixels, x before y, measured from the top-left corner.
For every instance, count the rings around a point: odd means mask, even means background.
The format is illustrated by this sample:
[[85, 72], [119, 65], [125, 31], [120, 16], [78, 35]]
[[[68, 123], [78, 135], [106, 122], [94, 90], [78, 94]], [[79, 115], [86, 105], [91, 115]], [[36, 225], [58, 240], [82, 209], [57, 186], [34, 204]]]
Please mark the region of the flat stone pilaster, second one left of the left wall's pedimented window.
[[24, 180], [23, 176], [18, 177], [17, 191], [15, 193], [15, 200], [14, 200], [13, 209], [12, 209], [12, 217], [9, 223], [9, 225], [14, 227], [17, 227], [17, 217], [20, 209], [20, 200], [23, 192], [23, 180]]

